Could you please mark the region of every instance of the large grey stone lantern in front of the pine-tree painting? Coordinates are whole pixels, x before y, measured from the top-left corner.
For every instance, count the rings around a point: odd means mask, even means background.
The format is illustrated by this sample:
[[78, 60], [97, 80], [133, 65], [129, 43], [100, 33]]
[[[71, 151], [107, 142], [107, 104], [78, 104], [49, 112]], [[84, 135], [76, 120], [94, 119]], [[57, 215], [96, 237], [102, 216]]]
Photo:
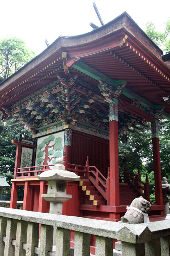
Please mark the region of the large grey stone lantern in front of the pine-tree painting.
[[62, 214], [63, 202], [72, 198], [72, 195], [66, 194], [67, 181], [78, 181], [80, 176], [65, 170], [63, 159], [57, 158], [54, 168], [42, 172], [38, 178], [48, 181], [47, 194], [41, 196], [46, 201], [50, 201], [50, 213]]

